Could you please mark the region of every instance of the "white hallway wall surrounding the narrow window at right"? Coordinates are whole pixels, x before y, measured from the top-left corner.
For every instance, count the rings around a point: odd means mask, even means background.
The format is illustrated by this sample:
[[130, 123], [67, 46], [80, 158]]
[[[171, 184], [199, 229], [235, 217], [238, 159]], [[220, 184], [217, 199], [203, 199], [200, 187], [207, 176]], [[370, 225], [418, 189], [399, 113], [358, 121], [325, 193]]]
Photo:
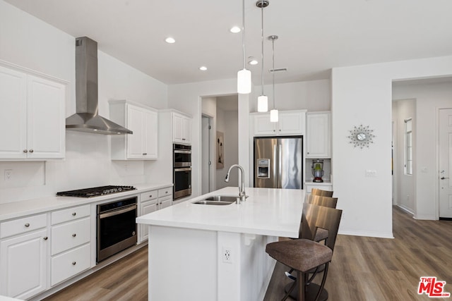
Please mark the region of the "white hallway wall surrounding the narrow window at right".
[[[393, 141], [394, 157], [393, 161], [393, 183], [395, 187], [393, 193], [395, 199], [393, 203], [402, 207], [406, 211], [415, 213], [415, 177], [417, 175], [414, 161], [413, 174], [405, 174], [405, 119], [412, 118], [412, 133], [417, 133], [415, 118], [416, 103], [415, 99], [401, 99], [393, 102], [393, 126], [396, 128]], [[413, 137], [413, 145], [415, 145]], [[416, 154], [416, 148], [413, 148], [413, 156]]]

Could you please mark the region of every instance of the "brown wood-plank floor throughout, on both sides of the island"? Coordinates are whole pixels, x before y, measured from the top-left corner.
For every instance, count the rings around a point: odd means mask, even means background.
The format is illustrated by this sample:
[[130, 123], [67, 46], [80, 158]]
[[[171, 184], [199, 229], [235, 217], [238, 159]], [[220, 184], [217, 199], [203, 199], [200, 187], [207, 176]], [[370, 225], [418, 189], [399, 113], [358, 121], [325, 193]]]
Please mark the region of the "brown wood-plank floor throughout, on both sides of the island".
[[[446, 281], [445, 291], [452, 293], [452, 221], [417, 221], [394, 207], [393, 233], [394, 239], [338, 235], [326, 281], [328, 300], [429, 300], [417, 295], [421, 276]], [[148, 300], [147, 250], [45, 300]], [[283, 297], [284, 285], [290, 283], [284, 271], [285, 266], [276, 265], [264, 301]]]

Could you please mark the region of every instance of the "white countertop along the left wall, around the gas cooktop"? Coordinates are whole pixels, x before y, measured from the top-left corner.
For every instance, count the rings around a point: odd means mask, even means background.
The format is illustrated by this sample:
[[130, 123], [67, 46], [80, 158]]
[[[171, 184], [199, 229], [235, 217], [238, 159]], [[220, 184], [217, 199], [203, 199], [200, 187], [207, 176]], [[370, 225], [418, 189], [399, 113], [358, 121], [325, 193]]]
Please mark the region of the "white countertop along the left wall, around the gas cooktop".
[[137, 195], [148, 190], [156, 190], [172, 186], [172, 183], [157, 184], [136, 184], [133, 185], [136, 190], [126, 192], [112, 193], [100, 197], [41, 197], [37, 199], [28, 199], [20, 202], [9, 202], [0, 204], [0, 221], [7, 219], [16, 219], [30, 214], [40, 214], [55, 209], [64, 209], [66, 207], [80, 206], [95, 202], [115, 200], [129, 195]]

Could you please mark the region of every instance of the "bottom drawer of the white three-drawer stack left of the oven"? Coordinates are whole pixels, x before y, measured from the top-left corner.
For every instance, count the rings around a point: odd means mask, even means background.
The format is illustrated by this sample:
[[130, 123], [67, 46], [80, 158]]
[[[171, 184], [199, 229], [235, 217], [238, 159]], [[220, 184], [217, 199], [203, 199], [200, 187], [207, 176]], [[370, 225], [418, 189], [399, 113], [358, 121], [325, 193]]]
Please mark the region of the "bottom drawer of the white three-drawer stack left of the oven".
[[50, 285], [71, 278], [90, 268], [90, 244], [83, 245], [51, 259]]

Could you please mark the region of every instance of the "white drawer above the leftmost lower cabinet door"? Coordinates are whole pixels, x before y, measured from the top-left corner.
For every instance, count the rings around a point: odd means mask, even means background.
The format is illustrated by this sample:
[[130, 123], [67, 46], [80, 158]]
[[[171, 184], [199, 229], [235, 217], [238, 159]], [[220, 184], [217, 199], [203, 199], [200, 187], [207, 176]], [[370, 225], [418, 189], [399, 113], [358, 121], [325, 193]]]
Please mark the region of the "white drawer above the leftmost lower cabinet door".
[[47, 214], [27, 216], [0, 224], [0, 238], [35, 231], [47, 226]]

